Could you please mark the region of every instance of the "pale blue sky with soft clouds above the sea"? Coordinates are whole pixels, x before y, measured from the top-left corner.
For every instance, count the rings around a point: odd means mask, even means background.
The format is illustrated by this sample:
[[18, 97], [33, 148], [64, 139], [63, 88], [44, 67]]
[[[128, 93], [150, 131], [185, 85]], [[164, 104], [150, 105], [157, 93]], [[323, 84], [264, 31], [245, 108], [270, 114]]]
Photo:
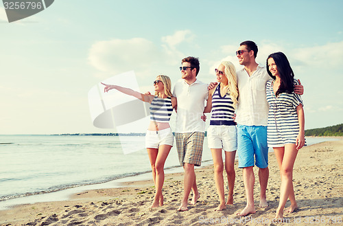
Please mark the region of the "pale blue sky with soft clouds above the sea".
[[215, 81], [239, 43], [257, 62], [283, 52], [305, 88], [305, 129], [343, 123], [343, 1], [58, 0], [8, 23], [0, 3], [0, 135], [113, 133], [93, 126], [88, 91], [134, 71], [139, 91], [158, 74], [180, 79], [186, 56]]

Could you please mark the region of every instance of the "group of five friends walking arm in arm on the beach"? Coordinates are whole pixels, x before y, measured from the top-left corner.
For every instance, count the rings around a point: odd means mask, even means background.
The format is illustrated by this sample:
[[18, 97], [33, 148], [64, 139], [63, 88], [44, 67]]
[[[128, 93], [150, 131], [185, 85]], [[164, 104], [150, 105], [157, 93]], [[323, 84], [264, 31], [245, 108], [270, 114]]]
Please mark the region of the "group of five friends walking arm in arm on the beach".
[[[182, 59], [182, 80], [176, 82], [173, 92], [170, 78], [163, 75], [157, 76], [154, 81], [154, 95], [114, 84], [104, 84], [105, 92], [117, 89], [151, 104], [145, 147], [156, 189], [152, 208], [163, 205], [163, 168], [174, 144], [169, 120], [175, 110], [175, 140], [180, 165], [185, 170], [184, 194], [179, 211], [188, 210], [191, 191], [192, 205], [200, 198], [194, 166], [201, 165], [206, 120], [204, 113], [210, 112], [207, 139], [220, 199], [220, 205], [215, 210], [224, 210], [226, 205], [233, 205], [236, 151], [238, 167], [243, 168], [246, 191], [246, 207], [237, 214], [246, 216], [256, 212], [254, 166], [259, 168], [259, 206], [268, 206], [265, 194], [269, 177], [268, 146], [274, 149], [281, 174], [280, 201], [275, 217], [283, 218], [287, 199], [291, 205], [286, 211], [296, 210], [298, 205], [294, 196], [292, 172], [298, 150], [305, 145], [305, 119], [300, 98], [303, 85], [300, 80], [294, 79], [285, 54], [270, 54], [266, 67], [263, 67], [256, 63], [257, 52], [257, 45], [253, 41], [242, 42], [236, 56], [244, 68], [236, 71], [233, 63], [224, 61], [215, 69], [217, 82], [211, 82], [209, 85], [198, 80], [200, 63], [198, 58], [193, 56]], [[222, 150], [225, 155], [224, 162]], [[227, 201], [224, 195], [224, 168], [228, 179]]]

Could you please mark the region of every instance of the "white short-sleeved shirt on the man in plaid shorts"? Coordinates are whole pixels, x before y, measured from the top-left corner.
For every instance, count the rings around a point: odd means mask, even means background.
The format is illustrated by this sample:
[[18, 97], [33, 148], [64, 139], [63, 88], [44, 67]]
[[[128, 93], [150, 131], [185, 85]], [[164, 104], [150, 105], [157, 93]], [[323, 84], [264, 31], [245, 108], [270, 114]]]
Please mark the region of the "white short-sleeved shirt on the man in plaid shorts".
[[204, 113], [204, 102], [209, 97], [208, 85], [200, 80], [187, 84], [178, 80], [173, 95], [178, 100], [175, 133], [204, 132], [205, 122], [201, 119]]

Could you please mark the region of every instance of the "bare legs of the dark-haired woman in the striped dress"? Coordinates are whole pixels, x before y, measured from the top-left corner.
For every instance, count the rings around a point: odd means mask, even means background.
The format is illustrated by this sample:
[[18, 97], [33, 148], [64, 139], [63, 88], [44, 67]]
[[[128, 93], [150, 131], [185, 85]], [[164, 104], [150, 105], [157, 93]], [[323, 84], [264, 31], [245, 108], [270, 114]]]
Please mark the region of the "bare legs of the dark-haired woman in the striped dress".
[[[293, 189], [293, 166], [296, 160], [298, 150], [294, 144], [286, 144], [285, 148], [274, 148], [276, 158], [279, 159], [283, 156], [281, 161], [281, 188], [280, 188], [280, 202], [276, 209], [275, 218], [283, 218], [283, 209], [285, 208], [286, 201], [289, 196], [294, 197]], [[293, 193], [293, 194], [292, 194]], [[293, 202], [293, 203], [292, 203]], [[294, 200], [291, 200], [291, 210], [294, 211], [298, 207]]]

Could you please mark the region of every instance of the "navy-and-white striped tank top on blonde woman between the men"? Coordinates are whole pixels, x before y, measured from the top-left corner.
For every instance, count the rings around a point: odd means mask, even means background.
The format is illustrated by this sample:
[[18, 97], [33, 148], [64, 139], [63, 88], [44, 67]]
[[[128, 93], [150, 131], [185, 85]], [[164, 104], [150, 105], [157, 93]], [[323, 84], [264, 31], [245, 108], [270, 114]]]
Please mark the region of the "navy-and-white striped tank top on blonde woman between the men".
[[230, 94], [226, 93], [224, 97], [220, 95], [220, 84], [218, 84], [212, 95], [212, 116], [210, 125], [212, 126], [233, 126], [233, 114], [235, 109], [233, 108], [233, 101], [230, 98]]

